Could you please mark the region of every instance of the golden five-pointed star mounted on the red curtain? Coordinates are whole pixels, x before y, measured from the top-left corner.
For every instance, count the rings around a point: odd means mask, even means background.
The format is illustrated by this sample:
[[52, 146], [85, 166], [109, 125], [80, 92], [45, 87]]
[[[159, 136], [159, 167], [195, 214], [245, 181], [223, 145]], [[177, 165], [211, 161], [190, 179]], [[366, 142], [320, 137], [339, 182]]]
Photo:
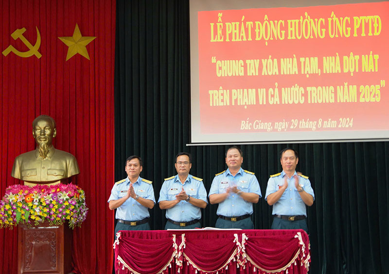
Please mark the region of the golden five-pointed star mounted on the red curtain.
[[87, 50], [87, 45], [96, 38], [95, 36], [82, 36], [80, 29], [76, 23], [76, 27], [74, 28], [73, 36], [70, 37], [58, 37], [59, 40], [65, 43], [68, 46], [68, 54], [66, 56], [66, 61], [68, 61], [75, 54], [79, 53], [85, 58], [89, 59], [89, 54]]

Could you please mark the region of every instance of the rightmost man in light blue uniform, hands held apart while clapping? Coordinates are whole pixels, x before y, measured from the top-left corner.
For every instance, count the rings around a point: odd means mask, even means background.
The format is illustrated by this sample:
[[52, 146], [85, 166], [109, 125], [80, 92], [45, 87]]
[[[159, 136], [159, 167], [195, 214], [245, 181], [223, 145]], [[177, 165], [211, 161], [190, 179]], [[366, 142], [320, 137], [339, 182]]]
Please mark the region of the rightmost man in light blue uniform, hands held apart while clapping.
[[283, 171], [271, 175], [265, 200], [273, 206], [271, 229], [304, 229], [308, 232], [306, 206], [312, 206], [315, 194], [307, 176], [296, 173], [299, 154], [292, 148], [280, 152]]

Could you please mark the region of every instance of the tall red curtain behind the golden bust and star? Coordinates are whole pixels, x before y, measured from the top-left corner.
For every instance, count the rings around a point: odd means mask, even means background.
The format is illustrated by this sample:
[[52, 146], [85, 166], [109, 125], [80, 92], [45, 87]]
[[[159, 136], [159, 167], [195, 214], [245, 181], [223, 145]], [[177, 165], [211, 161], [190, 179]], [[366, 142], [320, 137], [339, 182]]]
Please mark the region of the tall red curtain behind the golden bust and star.
[[[20, 36], [40, 47], [22, 58], [0, 54], [0, 194], [19, 184], [11, 177], [17, 155], [35, 148], [32, 121], [51, 115], [57, 124], [54, 146], [73, 154], [80, 174], [73, 179], [86, 193], [88, 218], [73, 231], [72, 259], [77, 273], [110, 273], [113, 257], [113, 212], [107, 197], [114, 181], [114, 49], [115, 0], [2, 0], [1, 50], [12, 45], [29, 51]], [[86, 49], [89, 59], [75, 54], [58, 37], [95, 36]], [[0, 273], [17, 273], [17, 229], [0, 229]]]

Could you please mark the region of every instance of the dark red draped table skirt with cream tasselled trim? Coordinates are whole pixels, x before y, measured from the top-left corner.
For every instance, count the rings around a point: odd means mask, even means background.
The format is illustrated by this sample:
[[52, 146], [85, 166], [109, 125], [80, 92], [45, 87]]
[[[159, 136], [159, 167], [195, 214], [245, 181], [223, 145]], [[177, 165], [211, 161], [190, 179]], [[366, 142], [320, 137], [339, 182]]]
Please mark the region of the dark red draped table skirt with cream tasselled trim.
[[120, 231], [117, 274], [306, 274], [304, 230]]

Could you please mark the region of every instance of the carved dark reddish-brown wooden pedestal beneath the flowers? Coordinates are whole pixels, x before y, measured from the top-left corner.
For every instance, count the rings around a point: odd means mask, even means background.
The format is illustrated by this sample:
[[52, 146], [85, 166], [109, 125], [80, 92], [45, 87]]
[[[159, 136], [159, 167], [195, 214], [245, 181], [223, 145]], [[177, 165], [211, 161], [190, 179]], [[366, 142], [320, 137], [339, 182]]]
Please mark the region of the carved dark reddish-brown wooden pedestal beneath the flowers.
[[71, 272], [71, 229], [68, 224], [18, 226], [18, 274]]

